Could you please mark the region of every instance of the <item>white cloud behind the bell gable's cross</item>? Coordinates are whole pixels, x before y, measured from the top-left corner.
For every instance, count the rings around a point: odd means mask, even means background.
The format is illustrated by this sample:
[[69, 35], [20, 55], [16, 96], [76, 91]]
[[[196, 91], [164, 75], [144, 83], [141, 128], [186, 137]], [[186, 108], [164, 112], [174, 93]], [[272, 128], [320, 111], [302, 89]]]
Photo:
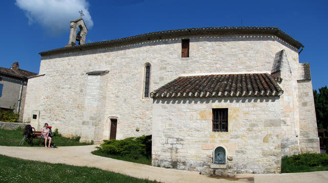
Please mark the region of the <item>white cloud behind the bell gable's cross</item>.
[[70, 21], [80, 17], [80, 10], [87, 28], [93, 26], [86, 0], [16, 0], [15, 5], [25, 11], [29, 25], [40, 24], [55, 35], [69, 30]]

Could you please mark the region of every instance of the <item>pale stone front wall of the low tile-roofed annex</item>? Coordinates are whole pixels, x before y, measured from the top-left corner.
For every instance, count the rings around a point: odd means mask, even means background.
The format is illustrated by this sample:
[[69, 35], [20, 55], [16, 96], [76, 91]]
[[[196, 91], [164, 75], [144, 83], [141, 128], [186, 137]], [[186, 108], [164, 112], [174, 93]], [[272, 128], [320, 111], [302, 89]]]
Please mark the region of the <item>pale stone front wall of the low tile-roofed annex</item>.
[[[213, 108], [228, 108], [228, 132], [213, 132]], [[281, 123], [279, 97], [154, 99], [152, 165], [209, 173], [223, 146], [229, 171], [278, 173]]]

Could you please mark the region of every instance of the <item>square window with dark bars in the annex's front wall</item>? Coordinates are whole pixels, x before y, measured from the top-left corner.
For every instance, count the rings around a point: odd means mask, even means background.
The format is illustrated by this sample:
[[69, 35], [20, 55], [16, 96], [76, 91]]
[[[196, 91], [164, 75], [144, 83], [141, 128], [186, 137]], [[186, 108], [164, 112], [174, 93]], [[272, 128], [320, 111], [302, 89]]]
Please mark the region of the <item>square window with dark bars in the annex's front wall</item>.
[[212, 109], [213, 132], [228, 132], [228, 109]]

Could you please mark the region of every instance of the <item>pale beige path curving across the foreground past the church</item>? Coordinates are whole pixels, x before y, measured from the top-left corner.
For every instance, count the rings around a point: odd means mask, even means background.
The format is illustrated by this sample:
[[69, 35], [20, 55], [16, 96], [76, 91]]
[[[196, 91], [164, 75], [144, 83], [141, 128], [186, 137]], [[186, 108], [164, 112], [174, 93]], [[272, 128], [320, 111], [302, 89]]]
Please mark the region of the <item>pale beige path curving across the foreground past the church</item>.
[[59, 147], [58, 149], [0, 146], [0, 154], [50, 163], [96, 167], [132, 177], [162, 182], [328, 182], [328, 171], [290, 174], [238, 174], [237, 178], [212, 178], [200, 175], [199, 172], [195, 171], [152, 167], [96, 156], [91, 154], [91, 151], [94, 151], [96, 146]]

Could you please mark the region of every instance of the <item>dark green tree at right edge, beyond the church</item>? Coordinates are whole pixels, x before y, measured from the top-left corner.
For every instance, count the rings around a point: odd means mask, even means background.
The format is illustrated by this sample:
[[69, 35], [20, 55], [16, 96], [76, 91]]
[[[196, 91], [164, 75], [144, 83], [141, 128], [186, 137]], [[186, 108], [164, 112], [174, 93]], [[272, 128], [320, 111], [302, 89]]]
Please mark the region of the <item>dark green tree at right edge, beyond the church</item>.
[[328, 126], [328, 88], [327, 86], [313, 91], [314, 105], [316, 108], [316, 117], [318, 128], [327, 129]]

